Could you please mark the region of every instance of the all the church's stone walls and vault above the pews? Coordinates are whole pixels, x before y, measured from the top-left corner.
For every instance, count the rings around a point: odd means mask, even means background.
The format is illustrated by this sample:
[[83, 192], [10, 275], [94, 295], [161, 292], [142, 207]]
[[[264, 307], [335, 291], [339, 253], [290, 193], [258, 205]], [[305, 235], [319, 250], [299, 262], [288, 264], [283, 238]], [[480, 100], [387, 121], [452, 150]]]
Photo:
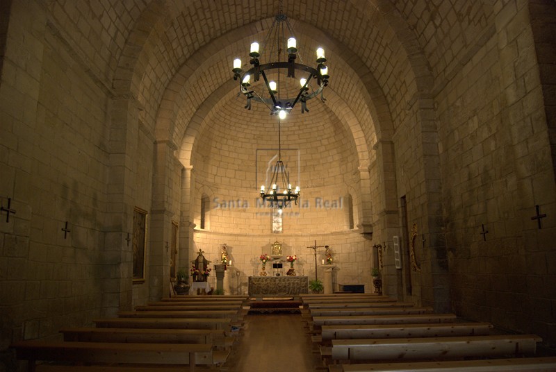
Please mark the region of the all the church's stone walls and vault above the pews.
[[[556, 352], [555, 1], [2, 0], [0, 26], [0, 371], [199, 255], [224, 297], [377, 272]], [[292, 55], [305, 91], [265, 65]]]

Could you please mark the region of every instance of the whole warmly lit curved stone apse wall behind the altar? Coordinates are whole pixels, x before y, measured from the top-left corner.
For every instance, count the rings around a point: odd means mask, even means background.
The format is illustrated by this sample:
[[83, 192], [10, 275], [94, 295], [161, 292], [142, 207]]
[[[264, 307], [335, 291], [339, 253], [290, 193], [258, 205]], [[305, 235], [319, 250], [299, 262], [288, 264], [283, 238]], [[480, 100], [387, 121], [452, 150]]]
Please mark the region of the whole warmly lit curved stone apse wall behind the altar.
[[[292, 186], [300, 185], [301, 197], [298, 205], [284, 209], [279, 232], [273, 221], [277, 210], [263, 206], [259, 196], [265, 169], [277, 160], [272, 158], [278, 147], [277, 117], [265, 108], [249, 111], [243, 105], [231, 99], [226, 111], [211, 112], [193, 146], [195, 231], [190, 255], [202, 249], [208, 260], [219, 260], [220, 247], [227, 244], [245, 293], [247, 276], [261, 269], [258, 257], [270, 254], [276, 241], [283, 244], [284, 256], [299, 257], [299, 275], [314, 278], [314, 251], [307, 247], [316, 241], [332, 249], [342, 284], [366, 280], [370, 288], [370, 242], [357, 230], [359, 216], [354, 215], [361, 191], [350, 131], [318, 101], [311, 101], [309, 113], [294, 111], [281, 121], [281, 159]], [[204, 217], [203, 197], [209, 204]], [[325, 248], [318, 248], [319, 267], [324, 259]]]

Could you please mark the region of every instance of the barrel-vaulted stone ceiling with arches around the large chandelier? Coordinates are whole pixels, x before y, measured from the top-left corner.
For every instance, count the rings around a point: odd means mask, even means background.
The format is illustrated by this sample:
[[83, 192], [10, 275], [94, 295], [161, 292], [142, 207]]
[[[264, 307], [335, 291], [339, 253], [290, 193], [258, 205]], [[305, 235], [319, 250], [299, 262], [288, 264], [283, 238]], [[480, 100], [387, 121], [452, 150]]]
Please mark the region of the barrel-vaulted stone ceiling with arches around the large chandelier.
[[[158, 140], [170, 140], [184, 164], [207, 117], [255, 140], [275, 125], [268, 112], [246, 117], [231, 61], [247, 60], [262, 40], [279, 2], [226, 0], [46, 2], [54, 24], [90, 74], [114, 96], [134, 96], [140, 121]], [[295, 114], [297, 133], [336, 123], [361, 165], [377, 140], [389, 140], [416, 101], [430, 99], [489, 35], [489, 1], [284, 0], [306, 63], [325, 47], [331, 81], [326, 103]], [[256, 127], [255, 131], [253, 128]], [[220, 135], [222, 137], [222, 135]]]

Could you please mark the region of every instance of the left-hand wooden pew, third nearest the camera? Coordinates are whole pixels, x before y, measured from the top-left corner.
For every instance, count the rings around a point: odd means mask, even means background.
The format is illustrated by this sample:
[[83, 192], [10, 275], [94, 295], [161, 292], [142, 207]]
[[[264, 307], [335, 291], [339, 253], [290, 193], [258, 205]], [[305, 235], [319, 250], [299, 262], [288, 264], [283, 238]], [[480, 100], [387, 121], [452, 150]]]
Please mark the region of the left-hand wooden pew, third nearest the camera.
[[93, 319], [98, 328], [190, 329], [231, 331], [229, 318], [107, 318]]

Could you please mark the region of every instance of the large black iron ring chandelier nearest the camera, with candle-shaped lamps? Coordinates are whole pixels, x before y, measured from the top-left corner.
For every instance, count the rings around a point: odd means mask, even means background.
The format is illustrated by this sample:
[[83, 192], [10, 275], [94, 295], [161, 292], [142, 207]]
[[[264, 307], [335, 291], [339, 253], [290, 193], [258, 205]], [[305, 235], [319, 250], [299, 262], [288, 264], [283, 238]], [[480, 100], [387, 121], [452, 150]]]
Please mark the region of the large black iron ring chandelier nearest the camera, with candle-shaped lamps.
[[[242, 64], [240, 58], [236, 58], [234, 60], [234, 68], [232, 69], [234, 72], [234, 80], [239, 80], [240, 92], [247, 99], [245, 108], [251, 110], [252, 100], [262, 102], [270, 109], [270, 115], [279, 114], [281, 119], [284, 119], [286, 114], [291, 112], [297, 102], [301, 103], [302, 113], [305, 111], [309, 112], [307, 108], [307, 101], [309, 101], [309, 99], [320, 94], [320, 99], [324, 102], [323, 90], [328, 85], [329, 79], [328, 67], [325, 65], [325, 50], [322, 48], [316, 50], [316, 68], [303, 65], [302, 63], [296, 63], [297, 41], [293, 36], [288, 38], [287, 44], [285, 45], [287, 47], [288, 60], [280, 60], [282, 47], [284, 47], [283, 44], [286, 40], [286, 28], [288, 33], [293, 35], [293, 29], [288, 21], [288, 17], [282, 12], [282, 4], [280, 1], [279, 15], [277, 15], [272, 22], [272, 26], [263, 44], [264, 48], [268, 49], [270, 58], [275, 54], [276, 60], [261, 65], [259, 61], [259, 57], [261, 56], [259, 53], [259, 43], [253, 42], [249, 53], [252, 67], [247, 71], [243, 71], [243, 69], [241, 69]], [[279, 81], [281, 74], [284, 74], [284, 71], [286, 71], [286, 76], [288, 78], [295, 79], [295, 70], [299, 70], [300, 74], [303, 75], [302, 78], [300, 78], [299, 85], [295, 83], [297, 88], [287, 89], [286, 87], [281, 87]], [[267, 74], [271, 73], [277, 73], [278, 83], [276, 81], [269, 81]], [[258, 82], [261, 76], [264, 80], [264, 85], [261, 87], [263, 92], [256, 92], [252, 83]], [[290, 94], [291, 96], [288, 96]]]

